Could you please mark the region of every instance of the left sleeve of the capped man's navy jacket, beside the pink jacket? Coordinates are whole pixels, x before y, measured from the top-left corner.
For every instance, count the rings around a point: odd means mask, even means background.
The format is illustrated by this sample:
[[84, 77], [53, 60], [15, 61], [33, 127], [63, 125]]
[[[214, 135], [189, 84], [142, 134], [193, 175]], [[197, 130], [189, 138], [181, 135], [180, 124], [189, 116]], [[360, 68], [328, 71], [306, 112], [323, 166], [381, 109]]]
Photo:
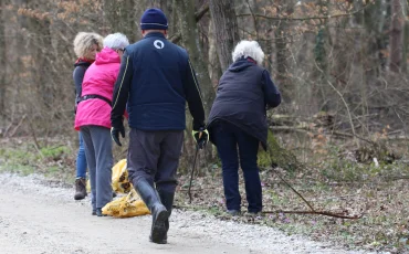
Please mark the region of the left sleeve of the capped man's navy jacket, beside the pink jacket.
[[125, 112], [126, 103], [128, 100], [133, 72], [134, 68], [132, 55], [128, 54], [125, 50], [125, 53], [120, 61], [119, 74], [115, 82], [114, 95], [112, 100], [113, 108], [111, 112], [111, 125], [116, 128], [123, 126], [123, 115]]

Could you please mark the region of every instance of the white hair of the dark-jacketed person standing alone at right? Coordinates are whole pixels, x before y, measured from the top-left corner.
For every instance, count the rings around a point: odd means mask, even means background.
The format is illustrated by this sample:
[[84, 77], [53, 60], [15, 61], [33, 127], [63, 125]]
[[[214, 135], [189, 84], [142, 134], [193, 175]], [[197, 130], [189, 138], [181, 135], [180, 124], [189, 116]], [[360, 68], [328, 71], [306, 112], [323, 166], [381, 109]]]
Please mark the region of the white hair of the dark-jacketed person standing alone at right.
[[231, 53], [233, 57], [233, 62], [238, 61], [239, 59], [247, 59], [252, 57], [258, 65], [263, 64], [264, 60], [264, 52], [261, 50], [259, 43], [256, 41], [241, 41], [234, 47], [233, 53]]

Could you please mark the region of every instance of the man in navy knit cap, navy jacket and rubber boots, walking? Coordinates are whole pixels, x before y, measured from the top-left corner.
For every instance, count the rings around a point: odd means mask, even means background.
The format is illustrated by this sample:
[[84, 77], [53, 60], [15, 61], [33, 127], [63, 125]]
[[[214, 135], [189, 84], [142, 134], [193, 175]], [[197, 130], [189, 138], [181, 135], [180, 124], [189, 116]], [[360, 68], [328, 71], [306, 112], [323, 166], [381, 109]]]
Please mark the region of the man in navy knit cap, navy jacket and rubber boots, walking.
[[140, 28], [144, 39], [125, 49], [115, 84], [112, 137], [122, 146], [122, 116], [127, 107], [129, 179], [153, 214], [150, 241], [167, 243], [186, 128], [186, 102], [193, 117], [193, 130], [198, 131], [196, 141], [201, 144], [208, 136], [195, 71], [186, 50], [166, 39], [166, 15], [159, 9], [148, 9]]

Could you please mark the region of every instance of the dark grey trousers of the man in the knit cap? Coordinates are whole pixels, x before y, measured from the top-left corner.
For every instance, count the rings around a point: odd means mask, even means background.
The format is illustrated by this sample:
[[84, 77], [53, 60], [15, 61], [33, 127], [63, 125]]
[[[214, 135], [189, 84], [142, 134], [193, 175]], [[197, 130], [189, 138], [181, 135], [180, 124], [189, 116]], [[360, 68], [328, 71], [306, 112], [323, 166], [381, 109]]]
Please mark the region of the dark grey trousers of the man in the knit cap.
[[136, 184], [147, 180], [156, 189], [175, 193], [183, 130], [145, 131], [130, 129], [127, 168], [129, 180]]

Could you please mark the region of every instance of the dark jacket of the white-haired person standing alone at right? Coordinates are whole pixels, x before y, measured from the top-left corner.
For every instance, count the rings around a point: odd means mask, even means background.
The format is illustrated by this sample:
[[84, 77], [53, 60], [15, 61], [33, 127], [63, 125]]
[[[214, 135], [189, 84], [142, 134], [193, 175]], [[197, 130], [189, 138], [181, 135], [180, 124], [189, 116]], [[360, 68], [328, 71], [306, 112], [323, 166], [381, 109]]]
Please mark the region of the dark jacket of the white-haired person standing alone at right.
[[[259, 139], [266, 149], [268, 123], [265, 110], [281, 103], [281, 94], [270, 73], [252, 59], [241, 59], [230, 65], [219, 81], [207, 128], [219, 120], [231, 123]], [[214, 144], [217, 146], [217, 144]]]

